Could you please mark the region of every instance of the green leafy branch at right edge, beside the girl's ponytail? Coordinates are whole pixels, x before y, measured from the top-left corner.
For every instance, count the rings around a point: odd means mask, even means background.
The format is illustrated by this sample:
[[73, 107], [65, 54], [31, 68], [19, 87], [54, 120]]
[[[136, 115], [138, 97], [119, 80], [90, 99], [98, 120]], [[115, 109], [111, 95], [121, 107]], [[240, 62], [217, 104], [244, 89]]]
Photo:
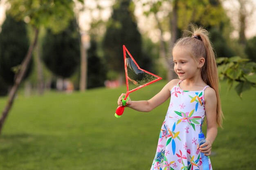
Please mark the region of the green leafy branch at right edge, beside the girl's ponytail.
[[229, 89], [234, 82], [238, 82], [235, 87], [236, 93], [242, 98], [242, 93], [250, 88], [256, 88], [256, 82], [248, 79], [256, 71], [256, 63], [250, 62], [249, 59], [234, 56], [231, 58], [219, 57], [217, 59], [218, 74], [220, 80], [227, 79]]

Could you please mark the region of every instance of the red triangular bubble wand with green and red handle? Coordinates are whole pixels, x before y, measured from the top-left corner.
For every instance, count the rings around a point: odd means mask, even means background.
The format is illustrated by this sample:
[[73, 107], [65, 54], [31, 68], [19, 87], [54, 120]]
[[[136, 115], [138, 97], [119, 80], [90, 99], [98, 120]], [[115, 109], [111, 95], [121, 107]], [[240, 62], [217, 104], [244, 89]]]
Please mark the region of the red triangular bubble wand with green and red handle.
[[126, 102], [129, 100], [128, 95], [130, 93], [162, 79], [153, 73], [141, 69], [124, 45], [123, 51], [127, 91], [126, 95], [122, 98], [123, 106], [117, 107], [115, 117], [121, 117], [124, 113], [124, 108], [126, 107]]

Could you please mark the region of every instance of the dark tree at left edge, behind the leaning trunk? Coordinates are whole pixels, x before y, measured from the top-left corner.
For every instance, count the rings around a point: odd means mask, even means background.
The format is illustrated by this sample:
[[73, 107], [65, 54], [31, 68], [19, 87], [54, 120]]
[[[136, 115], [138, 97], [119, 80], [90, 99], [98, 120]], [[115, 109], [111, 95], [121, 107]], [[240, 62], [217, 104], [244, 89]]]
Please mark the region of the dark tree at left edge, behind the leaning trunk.
[[[13, 85], [14, 76], [19, 71], [20, 63], [28, 47], [29, 40], [25, 22], [16, 21], [7, 15], [0, 33], [0, 77], [7, 85]], [[31, 68], [32, 62], [28, 65], [24, 78], [29, 75]]]

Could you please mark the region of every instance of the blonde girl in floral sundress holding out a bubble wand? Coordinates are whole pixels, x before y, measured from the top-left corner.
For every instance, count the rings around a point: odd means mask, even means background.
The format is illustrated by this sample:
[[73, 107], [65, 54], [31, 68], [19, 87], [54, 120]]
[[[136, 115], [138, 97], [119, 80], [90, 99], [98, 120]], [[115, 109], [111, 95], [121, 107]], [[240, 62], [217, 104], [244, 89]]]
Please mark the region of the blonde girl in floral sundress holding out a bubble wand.
[[[148, 101], [127, 102], [127, 107], [149, 112], [171, 97], [162, 125], [157, 152], [151, 170], [202, 170], [200, 152], [211, 155], [211, 146], [222, 126], [215, 55], [208, 32], [191, 25], [174, 45], [174, 71], [179, 79], [171, 80]], [[118, 105], [121, 106], [121, 97]], [[198, 134], [206, 117], [206, 142], [198, 145]], [[209, 168], [212, 170], [209, 159]]]

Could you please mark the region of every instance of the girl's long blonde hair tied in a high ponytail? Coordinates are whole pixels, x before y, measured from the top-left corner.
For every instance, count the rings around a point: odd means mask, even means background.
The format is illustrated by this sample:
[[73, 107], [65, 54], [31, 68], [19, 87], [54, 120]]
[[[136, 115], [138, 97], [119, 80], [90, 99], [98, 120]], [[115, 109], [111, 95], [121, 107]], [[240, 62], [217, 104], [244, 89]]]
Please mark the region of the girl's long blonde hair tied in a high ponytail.
[[[219, 78], [216, 64], [216, 56], [213, 52], [211, 42], [209, 40], [209, 33], [202, 27], [190, 24], [191, 31], [184, 31], [182, 38], [177, 40], [175, 46], [185, 46], [191, 56], [196, 59], [204, 57], [205, 63], [201, 68], [201, 76], [203, 81], [213, 88], [217, 97], [217, 124], [222, 127], [223, 113], [221, 110], [220, 94], [219, 94]], [[173, 47], [173, 49], [174, 49]]]

